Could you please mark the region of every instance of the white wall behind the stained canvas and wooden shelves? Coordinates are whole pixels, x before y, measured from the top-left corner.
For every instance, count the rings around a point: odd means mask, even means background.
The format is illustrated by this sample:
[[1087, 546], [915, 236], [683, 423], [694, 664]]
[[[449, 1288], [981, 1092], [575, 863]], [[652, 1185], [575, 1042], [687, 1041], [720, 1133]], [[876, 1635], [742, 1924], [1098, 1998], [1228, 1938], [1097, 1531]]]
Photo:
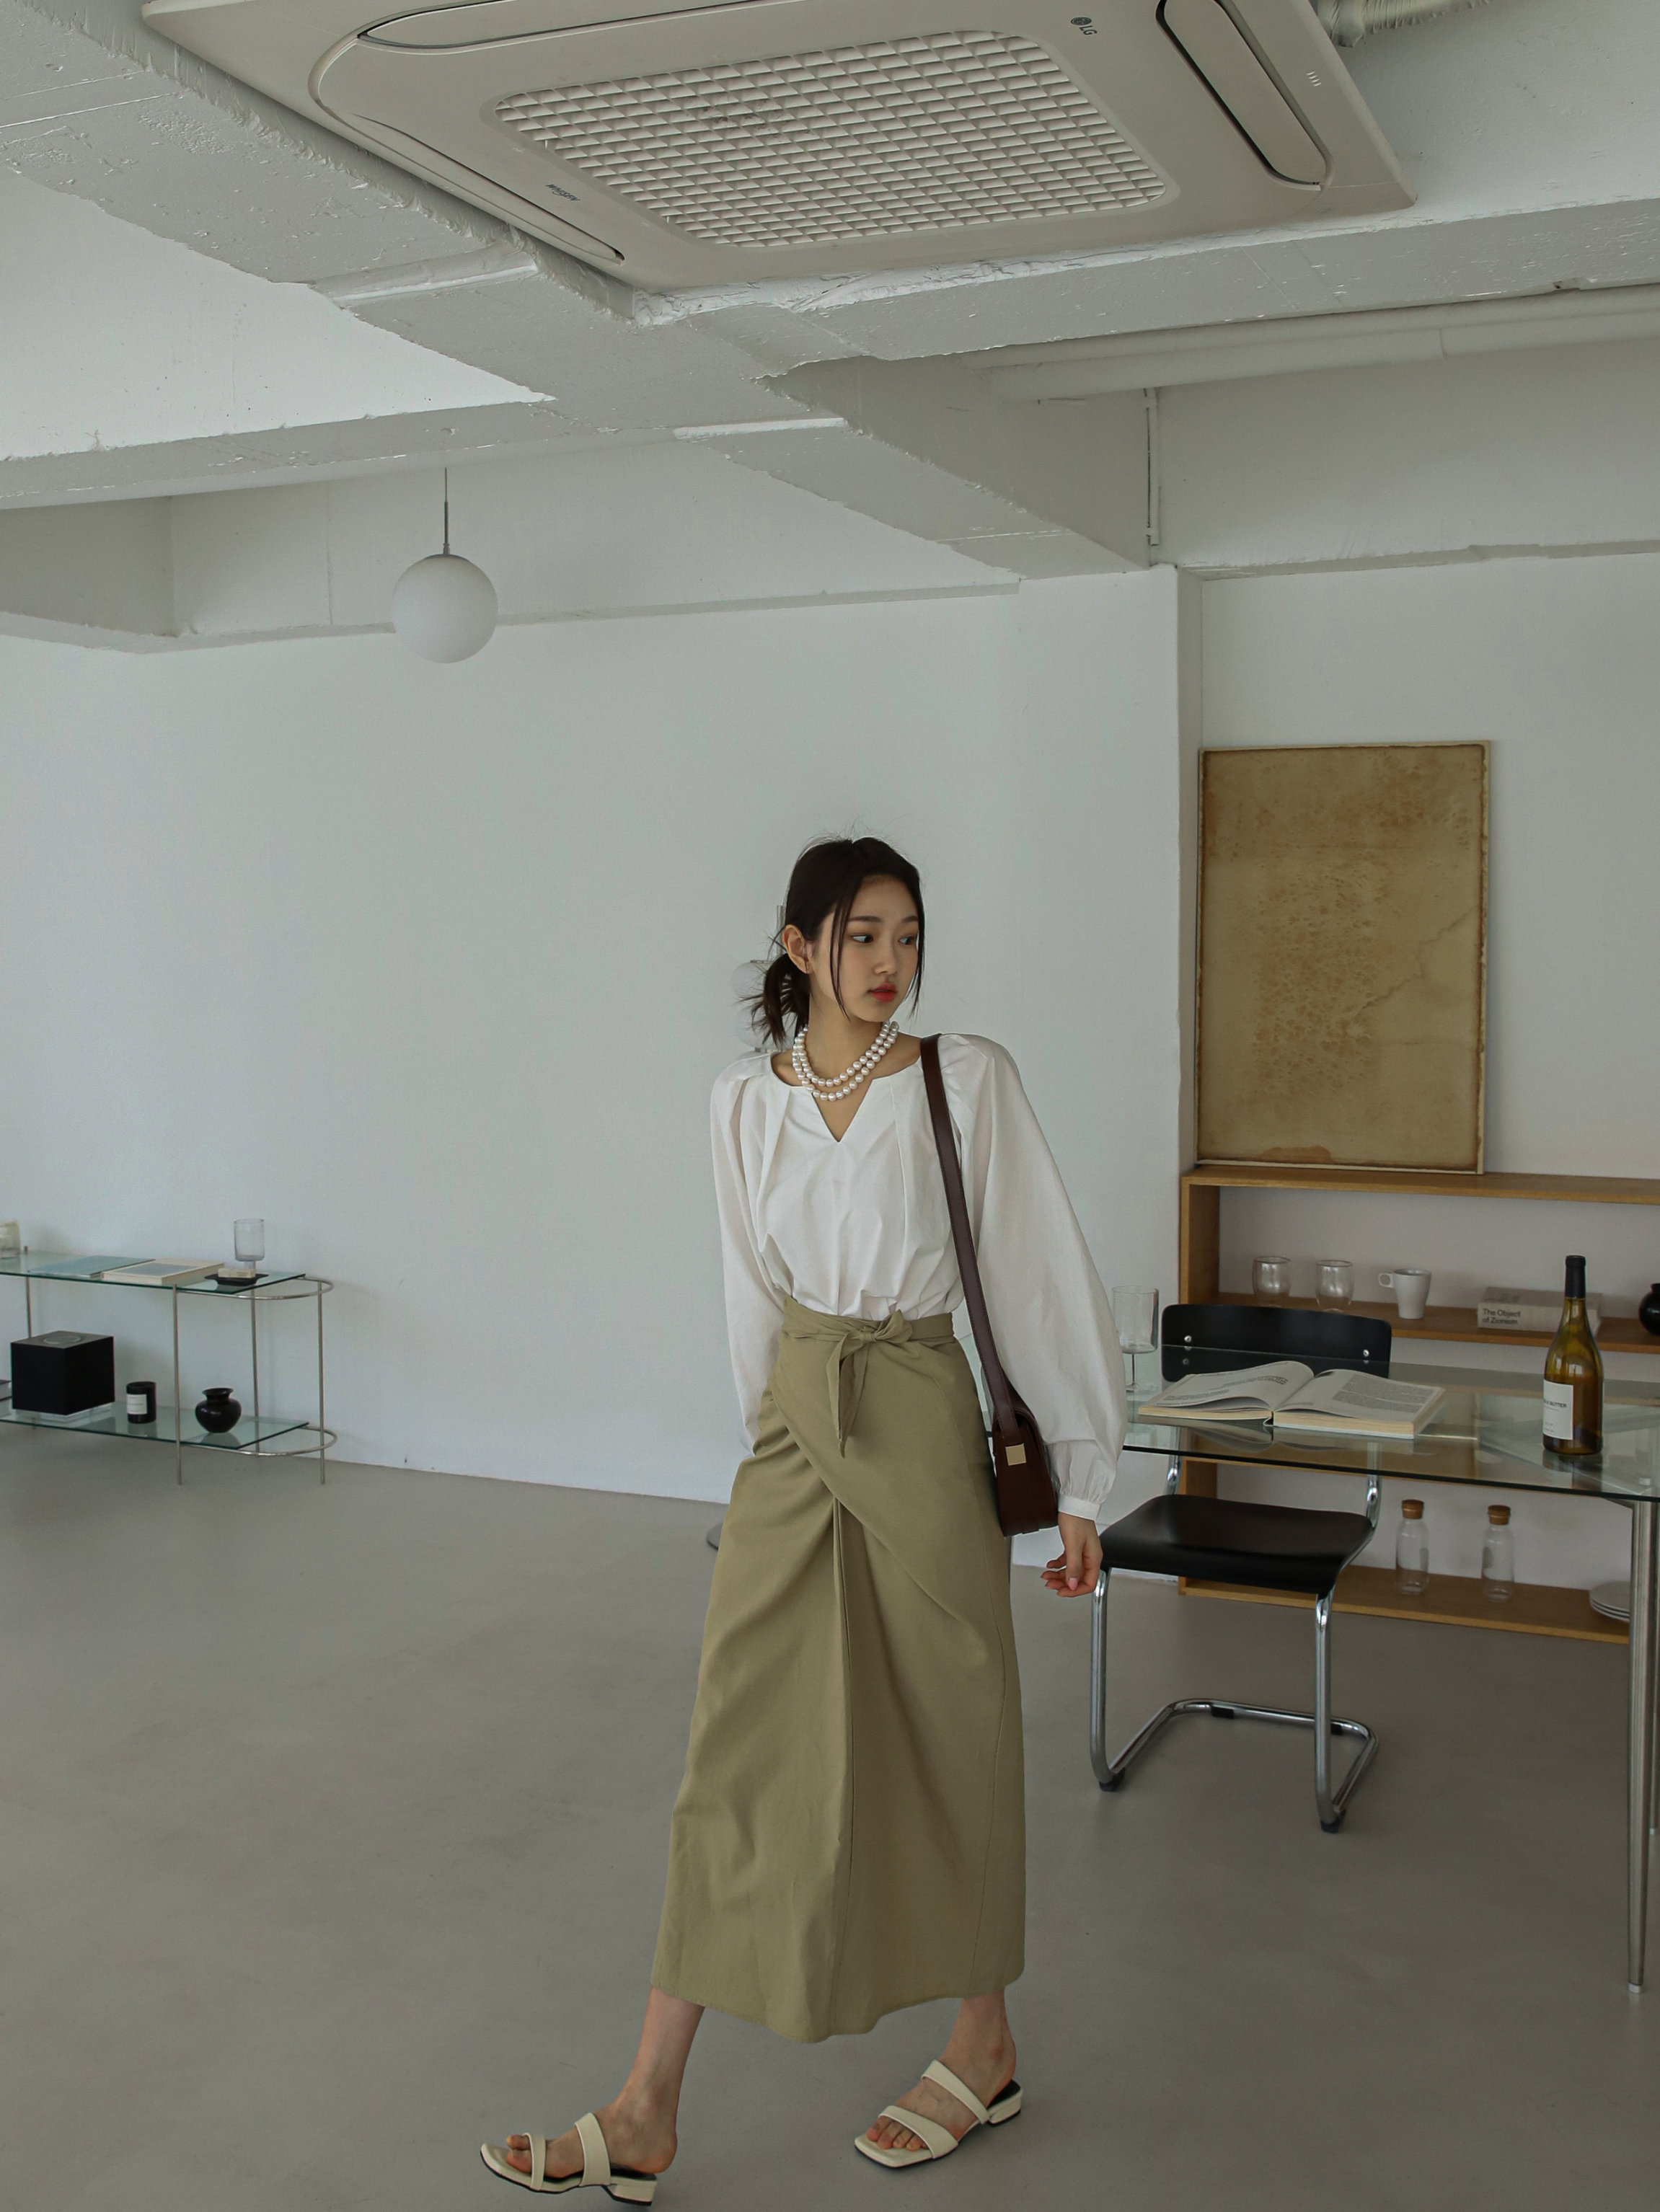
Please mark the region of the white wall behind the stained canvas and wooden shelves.
[[[1518, 560], [1204, 586], [1204, 741], [1492, 745], [1487, 1166], [1660, 1172], [1653, 1018], [1653, 823], [1660, 818], [1660, 555]], [[1434, 1303], [1485, 1283], [1558, 1285], [1585, 1252], [1631, 1312], [1660, 1276], [1660, 1210], [1306, 1192], [1224, 1197], [1222, 1279], [1253, 1252], [1434, 1270]], [[1310, 1281], [1297, 1290], [1308, 1292]], [[1412, 1347], [1529, 1371], [1532, 1352]], [[1607, 1358], [1660, 1389], [1660, 1360]], [[1279, 1478], [1279, 1495], [1290, 1495]], [[1485, 1500], [1436, 1491], [1448, 1573], [1476, 1573]], [[1514, 1500], [1518, 1573], [1591, 1584], [1625, 1571], [1627, 1515]], [[1392, 1542], [1392, 1533], [1390, 1533]]]

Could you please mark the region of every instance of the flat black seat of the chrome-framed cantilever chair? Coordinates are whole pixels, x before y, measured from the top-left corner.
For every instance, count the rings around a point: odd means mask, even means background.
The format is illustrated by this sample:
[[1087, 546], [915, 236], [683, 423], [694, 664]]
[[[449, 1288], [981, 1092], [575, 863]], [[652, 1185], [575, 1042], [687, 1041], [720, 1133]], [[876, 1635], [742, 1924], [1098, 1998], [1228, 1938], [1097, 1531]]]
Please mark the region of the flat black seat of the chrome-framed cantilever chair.
[[1363, 1513], [1308, 1513], [1235, 1498], [1149, 1498], [1102, 1528], [1104, 1566], [1326, 1597], [1372, 1537]]

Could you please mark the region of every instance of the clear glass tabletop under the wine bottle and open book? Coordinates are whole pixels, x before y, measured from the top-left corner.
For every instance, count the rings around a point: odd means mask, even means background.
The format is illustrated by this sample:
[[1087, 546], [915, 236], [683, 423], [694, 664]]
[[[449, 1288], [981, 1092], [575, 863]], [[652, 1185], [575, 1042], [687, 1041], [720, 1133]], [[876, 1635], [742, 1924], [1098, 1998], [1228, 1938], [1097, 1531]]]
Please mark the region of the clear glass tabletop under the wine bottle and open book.
[[[1237, 1358], [1262, 1365], [1259, 1356]], [[1124, 1451], [1215, 1460], [1231, 1467], [1308, 1467], [1335, 1475], [1399, 1475], [1408, 1482], [1474, 1482], [1505, 1491], [1578, 1491], [1589, 1498], [1660, 1498], [1660, 1389], [1609, 1383], [1602, 1394], [1602, 1451], [1565, 1460], [1545, 1444], [1538, 1376], [1514, 1378], [1476, 1367], [1390, 1363], [1399, 1383], [1445, 1389], [1428, 1427], [1405, 1440], [1386, 1436], [1308, 1436], [1264, 1422], [1144, 1420], [1140, 1407], [1164, 1383], [1135, 1389]]]

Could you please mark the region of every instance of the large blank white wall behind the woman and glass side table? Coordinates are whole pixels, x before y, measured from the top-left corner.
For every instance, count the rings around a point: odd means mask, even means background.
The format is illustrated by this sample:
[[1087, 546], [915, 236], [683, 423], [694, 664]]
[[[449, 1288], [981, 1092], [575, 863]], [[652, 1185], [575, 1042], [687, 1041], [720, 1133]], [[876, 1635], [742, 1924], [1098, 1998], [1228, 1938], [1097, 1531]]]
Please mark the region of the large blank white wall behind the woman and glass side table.
[[[719, 1498], [708, 1084], [797, 847], [861, 823], [923, 865], [927, 1022], [1016, 1051], [1104, 1279], [1173, 1290], [1175, 602], [527, 626], [452, 670], [0, 639], [0, 1214], [133, 1254], [263, 1214], [341, 1285], [347, 1455]], [[49, 1294], [93, 1316], [164, 1371], [139, 1294]], [[186, 1318], [188, 1398], [241, 1383]], [[266, 1356], [305, 1405], [303, 1321]]]

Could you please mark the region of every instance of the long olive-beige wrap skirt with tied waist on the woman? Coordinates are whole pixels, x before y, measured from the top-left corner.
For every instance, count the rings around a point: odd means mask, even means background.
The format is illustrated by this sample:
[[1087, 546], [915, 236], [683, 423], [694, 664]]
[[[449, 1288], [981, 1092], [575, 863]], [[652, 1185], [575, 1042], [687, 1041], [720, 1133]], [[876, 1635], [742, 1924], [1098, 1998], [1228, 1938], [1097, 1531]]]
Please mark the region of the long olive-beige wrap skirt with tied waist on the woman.
[[1009, 1555], [941, 1314], [786, 1303], [733, 1486], [655, 1989], [797, 2042], [1014, 1982], [1025, 1774]]

